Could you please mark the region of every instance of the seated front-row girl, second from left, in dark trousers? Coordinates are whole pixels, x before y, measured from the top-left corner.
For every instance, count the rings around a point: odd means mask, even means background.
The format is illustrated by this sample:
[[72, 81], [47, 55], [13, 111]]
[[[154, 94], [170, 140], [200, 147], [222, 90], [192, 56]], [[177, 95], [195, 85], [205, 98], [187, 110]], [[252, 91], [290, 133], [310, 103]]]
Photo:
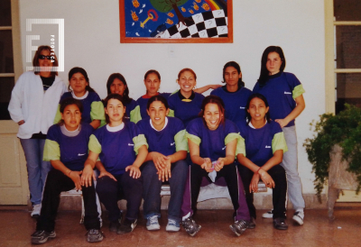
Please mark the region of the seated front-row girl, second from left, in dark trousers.
[[[84, 165], [82, 185], [90, 185], [93, 169], [100, 174], [97, 179], [97, 196], [109, 211], [109, 229], [116, 233], [133, 231], [142, 202], [143, 183], [140, 167], [148, 151], [147, 142], [135, 123], [124, 122], [123, 97], [112, 94], [105, 99], [106, 125], [97, 129], [88, 144], [89, 155]], [[119, 224], [121, 212], [117, 201], [125, 198], [126, 215]]]

